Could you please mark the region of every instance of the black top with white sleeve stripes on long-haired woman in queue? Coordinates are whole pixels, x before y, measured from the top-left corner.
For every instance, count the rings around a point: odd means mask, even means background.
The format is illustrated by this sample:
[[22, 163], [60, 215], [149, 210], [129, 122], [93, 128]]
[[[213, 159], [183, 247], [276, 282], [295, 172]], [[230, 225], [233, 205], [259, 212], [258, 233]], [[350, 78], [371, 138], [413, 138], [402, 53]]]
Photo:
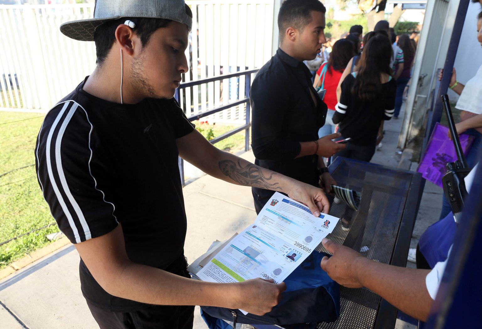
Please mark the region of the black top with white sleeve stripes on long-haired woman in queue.
[[333, 122], [339, 123], [344, 138], [351, 137], [350, 143], [370, 145], [376, 141], [381, 121], [393, 117], [397, 82], [390, 77], [388, 82], [382, 83], [378, 97], [370, 102], [362, 101], [358, 95], [351, 93], [354, 83], [353, 73], [341, 83], [340, 102], [335, 106]]

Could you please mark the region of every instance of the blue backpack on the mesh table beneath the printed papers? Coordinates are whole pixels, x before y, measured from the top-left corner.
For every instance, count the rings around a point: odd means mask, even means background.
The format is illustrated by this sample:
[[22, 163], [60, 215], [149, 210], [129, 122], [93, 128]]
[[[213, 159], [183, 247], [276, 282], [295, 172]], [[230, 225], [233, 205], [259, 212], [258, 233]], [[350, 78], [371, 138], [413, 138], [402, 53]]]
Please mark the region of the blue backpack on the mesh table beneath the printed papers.
[[323, 256], [313, 251], [284, 280], [286, 291], [280, 303], [264, 316], [244, 315], [239, 310], [214, 306], [201, 306], [201, 316], [209, 329], [231, 328], [219, 319], [257, 325], [257, 328], [278, 325], [286, 329], [315, 328], [318, 322], [333, 322], [340, 314], [340, 290], [338, 284], [321, 269]]

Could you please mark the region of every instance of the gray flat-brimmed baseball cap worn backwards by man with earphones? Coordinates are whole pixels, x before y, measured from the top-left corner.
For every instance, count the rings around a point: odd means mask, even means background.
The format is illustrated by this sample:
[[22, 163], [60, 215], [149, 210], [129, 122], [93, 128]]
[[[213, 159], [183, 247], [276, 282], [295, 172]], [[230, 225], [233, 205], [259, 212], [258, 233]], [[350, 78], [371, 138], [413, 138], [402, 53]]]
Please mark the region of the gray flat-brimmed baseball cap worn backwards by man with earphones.
[[72, 39], [94, 41], [97, 26], [122, 17], [163, 18], [192, 26], [192, 12], [184, 0], [96, 0], [94, 18], [64, 23], [60, 31]]

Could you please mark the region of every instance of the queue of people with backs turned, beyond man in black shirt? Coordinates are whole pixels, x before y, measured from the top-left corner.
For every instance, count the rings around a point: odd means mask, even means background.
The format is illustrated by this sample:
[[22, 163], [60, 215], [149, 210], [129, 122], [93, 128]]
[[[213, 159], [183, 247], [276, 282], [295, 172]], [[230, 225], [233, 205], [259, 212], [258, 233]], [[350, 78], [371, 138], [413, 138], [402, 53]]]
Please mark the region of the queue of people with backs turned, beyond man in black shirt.
[[379, 21], [374, 31], [363, 35], [363, 27], [354, 25], [342, 37], [327, 39], [315, 59], [304, 61], [313, 87], [328, 106], [318, 135], [340, 132], [337, 140], [350, 138], [347, 149], [333, 159], [370, 161], [382, 146], [384, 120], [400, 115], [418, 33], [396, 35], [387, 21]]

